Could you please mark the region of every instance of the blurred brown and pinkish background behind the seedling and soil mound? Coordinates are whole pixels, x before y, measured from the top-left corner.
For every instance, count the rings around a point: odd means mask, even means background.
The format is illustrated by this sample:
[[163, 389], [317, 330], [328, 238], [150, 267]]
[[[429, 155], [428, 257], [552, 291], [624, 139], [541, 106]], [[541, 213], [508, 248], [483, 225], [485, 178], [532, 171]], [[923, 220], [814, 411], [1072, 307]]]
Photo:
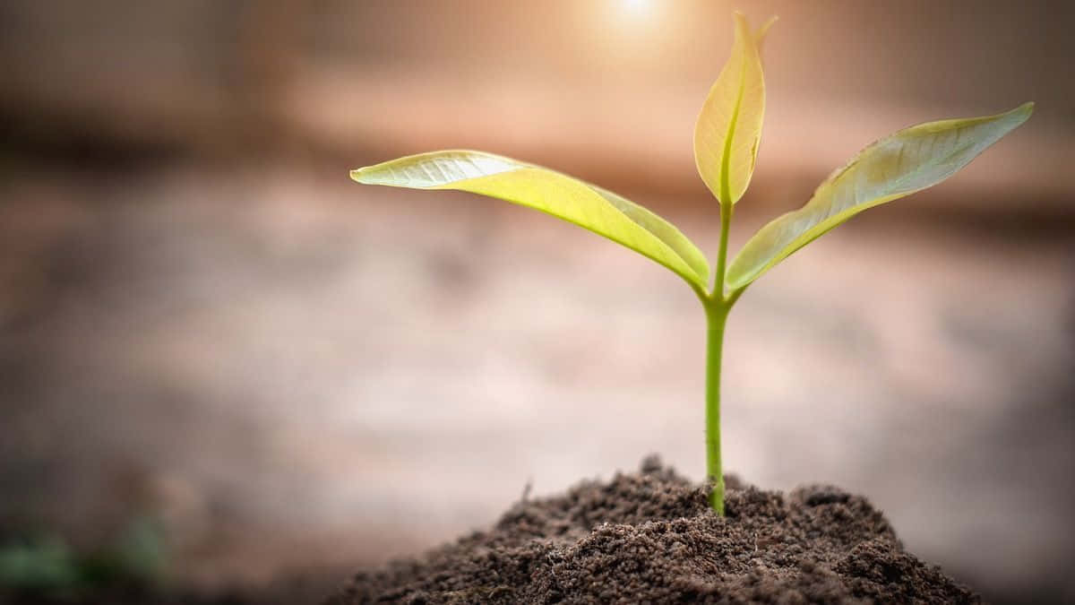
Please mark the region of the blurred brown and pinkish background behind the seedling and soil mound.
[[865, 494], [992, 602], [1075, 600], [1075, 4], [1046, 0], [4, 2], [0, 578], [103, 552], [316, 599], [527, 486], [650, 452], [701, 480], [704, 319], [678, 278], [347, 170], [491, 151], [715, 254], [691, 140], [734, 8], [780, 20], [733, 250], [892, 130], [1037, 109], [750, 287], [729, 469]]

